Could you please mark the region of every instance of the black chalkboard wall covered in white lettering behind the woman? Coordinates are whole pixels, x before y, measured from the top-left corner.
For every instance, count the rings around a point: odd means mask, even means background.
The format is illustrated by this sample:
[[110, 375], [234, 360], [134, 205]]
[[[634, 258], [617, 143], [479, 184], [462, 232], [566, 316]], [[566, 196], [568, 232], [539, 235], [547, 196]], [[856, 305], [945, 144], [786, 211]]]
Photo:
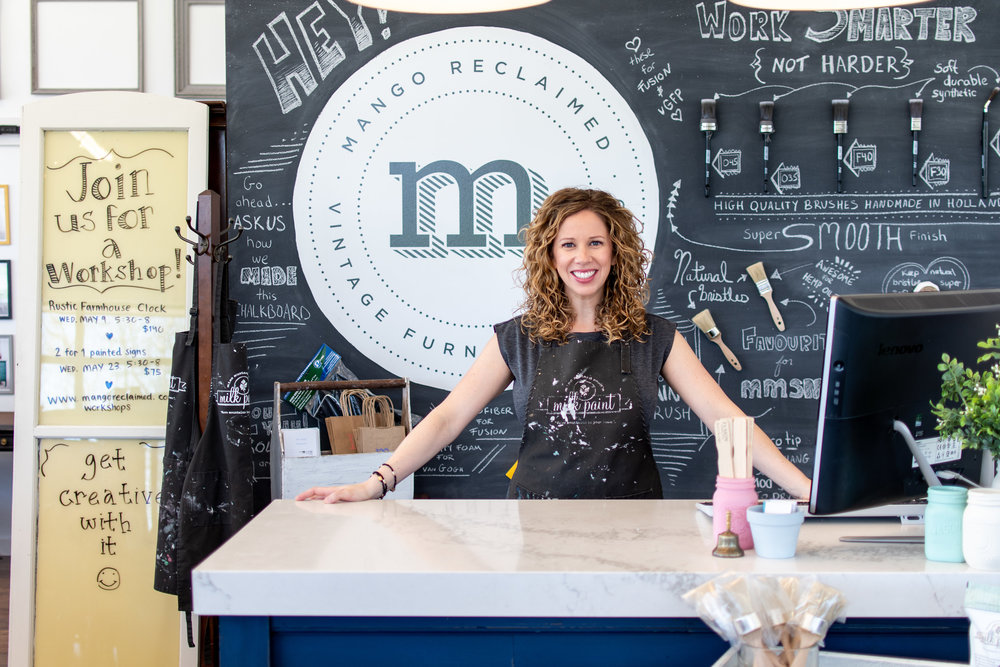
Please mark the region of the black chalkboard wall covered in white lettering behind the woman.
[[[981, 169], [985, 117], [1000, 183], [1000, 118], [984, 116], [1000, 82], [993, 3], [226, 11], [228, 214], [243, 230], [232, 292], [258, 505], [272, 423], [318, 424], [287, 403], [272, 415], [273, 382], [295, 380], [325, 343], [359, 377], [410, 377], [425, 414], [514, 312], [516, 230], [565, 185], [636, 212], [655, 254], [650, 310], [807, 474], [831, 294], [998, 286], [1000, 188], [982, 196]], [[839, 163], [835, 99], [848, 101]], [[923, 103], [915, 178], [910, 99]], [[766, 189], [762, 101], [774, 103]], [[747, 274], [756, 262], [783, 331]], [[705, 308], [742, 370], [692, 323]], [[652, 429], [666, 495], [709, 496], [714, 442], [665, 386]], [[502, 497], [519, 441], [506, 392], [418, 473], [416, 494]], [[777, 492], [766, 479], [758, 490]]]

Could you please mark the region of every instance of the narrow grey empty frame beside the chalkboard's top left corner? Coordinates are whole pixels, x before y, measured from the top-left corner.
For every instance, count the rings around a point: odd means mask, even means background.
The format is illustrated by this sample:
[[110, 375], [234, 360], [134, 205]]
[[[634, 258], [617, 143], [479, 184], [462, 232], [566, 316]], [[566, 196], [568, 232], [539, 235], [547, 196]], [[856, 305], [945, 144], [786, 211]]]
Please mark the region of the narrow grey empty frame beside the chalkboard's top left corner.
[[174, 0], [174, 93], [226, 99], [225, 0]]

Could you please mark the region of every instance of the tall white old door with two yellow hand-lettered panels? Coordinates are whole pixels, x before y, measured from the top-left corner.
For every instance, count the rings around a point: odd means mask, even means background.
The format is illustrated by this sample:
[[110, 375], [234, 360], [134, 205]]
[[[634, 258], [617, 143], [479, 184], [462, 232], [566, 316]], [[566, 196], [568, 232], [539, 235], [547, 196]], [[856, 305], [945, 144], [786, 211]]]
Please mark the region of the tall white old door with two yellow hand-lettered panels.
[[[178, 662], [176, 600], [153, 590], [155, 548], [140, 536], [149, 521], [92, 524], [95, 510], [121, 508], [67, 505], [80, 496], [40, 489], [58, 459], [81, 492], [91, 484], [94, 498], [110, 498], [99, 490], [114, 489], [142, 517], [158, 516], [170, 348], [190, 304], [187, 246], [174, 227], [196, 215], [207, 155], [208, 107], [198, 102], [84, 92], [24, 108], [14, 287], [18, 303], [37, 305], [18, 313], [16, 330], [12, 664], [73, 661], [60, 650]], [[67, 521], [87, 529], [67, 532]], [[65, 577], [78, 611], [46, 612], [38, 625], [36, 606], [51, 610]], [[112, 597], [126, 594], [127, 603]], [[143, 613], [122, 617], [123, 604]]]

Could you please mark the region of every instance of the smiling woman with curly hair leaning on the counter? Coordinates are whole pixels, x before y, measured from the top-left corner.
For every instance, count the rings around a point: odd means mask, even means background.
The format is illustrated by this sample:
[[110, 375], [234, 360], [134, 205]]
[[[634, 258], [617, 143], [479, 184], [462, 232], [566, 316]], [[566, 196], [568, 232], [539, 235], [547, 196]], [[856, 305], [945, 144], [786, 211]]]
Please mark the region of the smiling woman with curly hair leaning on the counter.
[[[314, 487], [296, 499], [381, 498], [511, 381], [524, 437], [508, 497], [662, 497], [649, 435], [657, 376], [710, 429], [743, 412], [676, 326], [646, 312], [649, 259], [634, 216], [611, 195], [575, 188], [550, 195], [525, 230], [523, 314], [494, 327], [448, 397], [368, 480]], [[808, 478], [759, 427], [753, 443], [761, 472], [808, 497]]]

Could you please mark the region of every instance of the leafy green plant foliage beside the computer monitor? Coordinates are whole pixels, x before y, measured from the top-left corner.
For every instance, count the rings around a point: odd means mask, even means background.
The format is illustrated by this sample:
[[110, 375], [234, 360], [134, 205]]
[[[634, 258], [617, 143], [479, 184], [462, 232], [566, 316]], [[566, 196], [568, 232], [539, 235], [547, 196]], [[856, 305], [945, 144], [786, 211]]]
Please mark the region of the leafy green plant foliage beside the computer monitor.
[[980, 449], [1000, 459], [1000, 325], [996, 336], [977, 345], [987, 350], [977, 363], [992, 362], [983, 371], [941, 355], [941, 400], [931, 411], [938, 418], [936, 428], [942, 437], [958, 440], [963, 449]]

